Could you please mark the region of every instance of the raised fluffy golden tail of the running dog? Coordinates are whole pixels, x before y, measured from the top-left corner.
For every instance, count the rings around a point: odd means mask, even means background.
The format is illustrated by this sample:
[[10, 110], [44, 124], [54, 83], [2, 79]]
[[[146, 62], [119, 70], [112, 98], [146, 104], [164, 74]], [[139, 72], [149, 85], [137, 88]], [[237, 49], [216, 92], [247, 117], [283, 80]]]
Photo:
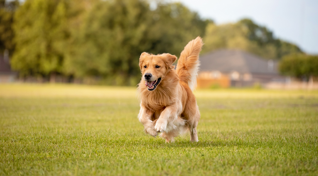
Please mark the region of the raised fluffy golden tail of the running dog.
[[197, 87], [197, 72], [199, 70], [199, 53], [203, 42], [201, 37], [191, 40], [181, 52], [177, 63], [177, 74], [179, 79], [187, 83], [193, 91]]

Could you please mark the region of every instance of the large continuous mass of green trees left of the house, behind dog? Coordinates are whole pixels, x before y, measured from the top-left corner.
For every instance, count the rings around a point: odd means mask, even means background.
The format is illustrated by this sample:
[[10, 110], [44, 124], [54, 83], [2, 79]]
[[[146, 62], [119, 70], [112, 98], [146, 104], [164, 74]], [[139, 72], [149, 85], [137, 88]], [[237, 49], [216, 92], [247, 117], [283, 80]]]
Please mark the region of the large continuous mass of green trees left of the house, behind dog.
[[206, 21], [180, 3], [150, 10], [141, 0], [26, 0], [15, 14], [17, 49], [11, 64], [21, 75], [98, 76], [109, 84], [136, 84], [143, 51], [179, 55], [203, 36]]

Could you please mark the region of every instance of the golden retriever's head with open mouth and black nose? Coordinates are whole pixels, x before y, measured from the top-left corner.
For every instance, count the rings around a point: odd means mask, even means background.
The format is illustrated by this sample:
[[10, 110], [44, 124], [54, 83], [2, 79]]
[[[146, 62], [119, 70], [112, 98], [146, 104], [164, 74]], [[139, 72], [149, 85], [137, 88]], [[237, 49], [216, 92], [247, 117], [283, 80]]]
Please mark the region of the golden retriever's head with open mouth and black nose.
[[146, 81], [148, 90], [155, 90], [162, 79], [165, 78], [177, 57], [170, 54], [152, 55], [143, 52], [139, 58], [139, 67], [142, 73], [142, 79]]

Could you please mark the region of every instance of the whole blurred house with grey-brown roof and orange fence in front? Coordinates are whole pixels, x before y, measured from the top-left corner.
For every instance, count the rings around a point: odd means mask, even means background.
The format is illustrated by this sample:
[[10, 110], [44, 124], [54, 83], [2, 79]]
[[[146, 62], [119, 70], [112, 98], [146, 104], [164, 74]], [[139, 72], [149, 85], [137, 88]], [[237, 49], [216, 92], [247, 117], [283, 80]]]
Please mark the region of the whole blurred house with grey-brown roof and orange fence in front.
[[242, 50], [220, 49], [200, 56], [199, 88], [250, 87], [290, 79], [278, 72], [278, 62]]

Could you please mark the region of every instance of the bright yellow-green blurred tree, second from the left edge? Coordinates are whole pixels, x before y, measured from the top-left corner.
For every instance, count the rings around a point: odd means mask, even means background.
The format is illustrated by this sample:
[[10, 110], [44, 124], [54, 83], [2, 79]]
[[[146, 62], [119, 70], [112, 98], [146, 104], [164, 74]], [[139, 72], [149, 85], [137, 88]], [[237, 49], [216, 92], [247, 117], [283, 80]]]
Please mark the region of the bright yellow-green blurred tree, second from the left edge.
[[68, 29], [67, 0], [26, 0], [15, 14], [16, 52], [11, 64], [20, 75], [62, 72]]

